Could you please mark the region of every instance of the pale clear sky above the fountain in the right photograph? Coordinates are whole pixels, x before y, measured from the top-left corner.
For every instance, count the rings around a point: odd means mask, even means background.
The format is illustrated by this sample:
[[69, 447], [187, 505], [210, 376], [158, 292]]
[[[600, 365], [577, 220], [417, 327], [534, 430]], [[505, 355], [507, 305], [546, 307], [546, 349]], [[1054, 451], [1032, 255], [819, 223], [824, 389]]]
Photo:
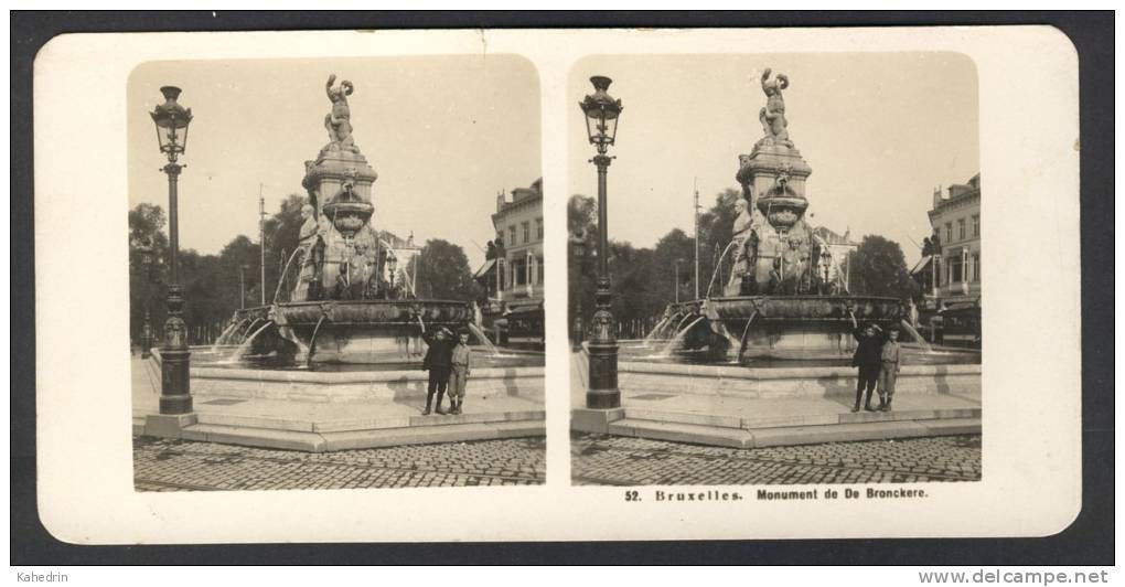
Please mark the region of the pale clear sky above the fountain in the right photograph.
[[713, 205], [717, 193], [738, 188], [738, 155], [762, 137], [766, 67], [789, 76], [790, 138], [812, 166], [806, 219], [840, 234], [850, 228], [856, 241], [885, 236], [912, 265], [930, 232], [934, 188], [980, 171], [976, 70], [956, 53], [584, 58], [568, 80], [576, 105], [568, 193], [596, 196], [577, 102], [593, 91], [591, 75], [606, 75], [624, 107], [610, 152], [610, 237], [651, 246], [672, 228], [692, 235], [693, 183], [700, 204]]

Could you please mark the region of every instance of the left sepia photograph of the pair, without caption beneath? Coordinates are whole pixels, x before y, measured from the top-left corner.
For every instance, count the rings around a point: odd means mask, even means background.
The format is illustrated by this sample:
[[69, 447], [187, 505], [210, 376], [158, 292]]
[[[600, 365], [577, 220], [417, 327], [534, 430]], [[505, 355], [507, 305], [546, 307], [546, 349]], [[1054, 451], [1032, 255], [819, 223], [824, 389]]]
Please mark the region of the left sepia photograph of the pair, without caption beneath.
[[544, 482], [539, 103], [514, 55], [134, 70], [135, 489]]

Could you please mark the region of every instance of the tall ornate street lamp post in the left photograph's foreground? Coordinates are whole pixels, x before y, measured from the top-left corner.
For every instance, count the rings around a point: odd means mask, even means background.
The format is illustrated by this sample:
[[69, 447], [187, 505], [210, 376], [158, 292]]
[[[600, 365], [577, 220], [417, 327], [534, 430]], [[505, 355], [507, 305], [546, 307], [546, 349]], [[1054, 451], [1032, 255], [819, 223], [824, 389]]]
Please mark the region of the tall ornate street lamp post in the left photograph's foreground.
[[177, 160], [188, 142], [191, 109], [177, 102], [180, 89], [165, 85], [160, 89], [164, 103], [150, 112], [156, 125], [160, 151], [168, 156], [162, 171], [168, 174], [168, 218], [171, 273], [168, 283], [168, 319], [164, 322], [164, 343], [161, 355], [160, 413], [169, 415], [191, 413], [191, 352], [188, 350], [187, 326], [183, 323], [183, 288], [180, 286], [180, 234], [177, 216], [177, 181], [183, 165]]

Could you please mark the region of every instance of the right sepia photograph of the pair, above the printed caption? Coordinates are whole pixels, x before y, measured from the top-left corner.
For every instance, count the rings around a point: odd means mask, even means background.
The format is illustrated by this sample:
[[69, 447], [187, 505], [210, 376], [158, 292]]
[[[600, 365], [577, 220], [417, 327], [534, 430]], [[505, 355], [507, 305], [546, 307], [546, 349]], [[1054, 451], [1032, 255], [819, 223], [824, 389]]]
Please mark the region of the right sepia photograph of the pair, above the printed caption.
[[981, 479], [971, 58], [605, 55], [568, 92], [573, 484]]

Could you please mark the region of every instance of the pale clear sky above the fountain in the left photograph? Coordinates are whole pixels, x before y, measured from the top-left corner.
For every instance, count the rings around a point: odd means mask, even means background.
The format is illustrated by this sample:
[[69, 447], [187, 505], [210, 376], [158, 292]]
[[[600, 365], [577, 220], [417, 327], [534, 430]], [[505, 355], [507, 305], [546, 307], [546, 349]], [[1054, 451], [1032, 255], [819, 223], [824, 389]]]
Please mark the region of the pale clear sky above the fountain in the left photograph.
[[496, 192], [541, 177], [534, 66], [512, 55], [150, 62], [128, 81], [129, 207], [168, 208], [166, 163], [148, 112], [162, 85], [191, 108], [181, 163], [180, 246], [218, 253], [240, 234], [258, 241], [267, 214], [304, 196], [306, 160], [327, 142], [328, 74], [350, 80], [352, 136], [379, 174], [372, 223], [415, 242], [461, 245], [470, 269], [493, 238]]

